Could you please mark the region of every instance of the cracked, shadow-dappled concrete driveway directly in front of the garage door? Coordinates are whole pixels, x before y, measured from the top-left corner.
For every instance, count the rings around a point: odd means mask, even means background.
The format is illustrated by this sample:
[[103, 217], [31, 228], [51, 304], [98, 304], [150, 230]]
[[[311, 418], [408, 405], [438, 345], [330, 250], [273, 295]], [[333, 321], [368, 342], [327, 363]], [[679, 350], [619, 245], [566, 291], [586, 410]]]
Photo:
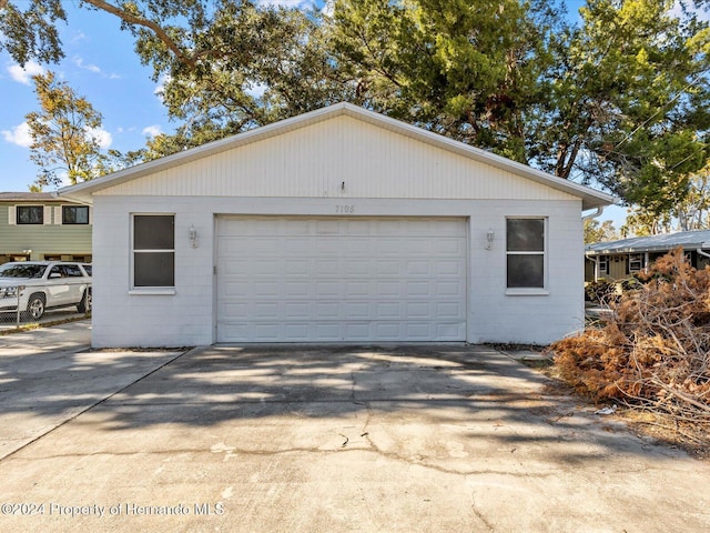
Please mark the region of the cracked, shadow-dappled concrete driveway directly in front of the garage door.
[[[121, 353], [81, 364], [150, 359]], [[545, 395], [495, 350], [151, 356], [148, 375], [0, 461], [1, 531], [710, 530], [708, 463]], [[14, 389], [11, 409], [41, 418], [55, 393], [30, 405]]]

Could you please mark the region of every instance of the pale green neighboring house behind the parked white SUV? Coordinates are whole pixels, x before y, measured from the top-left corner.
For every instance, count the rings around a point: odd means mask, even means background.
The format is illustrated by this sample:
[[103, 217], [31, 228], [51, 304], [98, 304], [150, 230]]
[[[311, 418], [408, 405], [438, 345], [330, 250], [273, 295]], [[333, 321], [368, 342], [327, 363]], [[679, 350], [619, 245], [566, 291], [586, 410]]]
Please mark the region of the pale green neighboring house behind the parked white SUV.
[[0, 192], [0, 263], [91, 261], [92, 208], [49, 192]]

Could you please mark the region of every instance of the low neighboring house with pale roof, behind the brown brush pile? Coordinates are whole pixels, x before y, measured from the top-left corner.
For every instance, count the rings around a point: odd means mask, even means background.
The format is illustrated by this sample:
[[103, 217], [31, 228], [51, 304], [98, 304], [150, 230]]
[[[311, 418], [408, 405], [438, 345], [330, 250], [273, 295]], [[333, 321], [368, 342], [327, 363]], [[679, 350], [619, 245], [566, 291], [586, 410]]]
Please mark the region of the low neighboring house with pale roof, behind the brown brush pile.
[[710, 264], [710, 230], [635, 237], [585, 249], [585, 281], [623, 280], [643, 272], [658, 258], [682, 248], [696, 269]]

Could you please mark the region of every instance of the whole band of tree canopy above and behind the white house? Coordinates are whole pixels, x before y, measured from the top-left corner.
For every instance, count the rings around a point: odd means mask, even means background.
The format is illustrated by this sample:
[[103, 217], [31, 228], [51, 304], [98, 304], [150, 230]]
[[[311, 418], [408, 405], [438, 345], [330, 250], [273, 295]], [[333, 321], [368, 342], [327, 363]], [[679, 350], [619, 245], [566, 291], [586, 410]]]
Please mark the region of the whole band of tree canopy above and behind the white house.
[[[164, 84], [160, 157], [352, 101], [562, 179], [648, 217], [686, 201], [710, 158], [709, 0], [84, 0], [135, 38]], [[0, 0], [0, 48], [62, 56], [62, 0]], [[20, 9], [21, 8], [21, 9]], [[679, 9], [680, 8], [680, 9]]]

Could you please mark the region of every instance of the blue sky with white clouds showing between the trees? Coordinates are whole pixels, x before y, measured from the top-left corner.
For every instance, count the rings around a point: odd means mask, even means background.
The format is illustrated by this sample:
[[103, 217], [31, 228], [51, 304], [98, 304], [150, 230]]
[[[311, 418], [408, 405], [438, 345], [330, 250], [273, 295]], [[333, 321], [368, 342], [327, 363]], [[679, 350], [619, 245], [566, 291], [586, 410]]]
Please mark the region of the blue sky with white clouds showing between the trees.
[[[297, 6], [310, 0], [267, 1]], [[581, 3], [567, 1], [570, 17]], [[97, 134], [102, 145], [125, 152], [143, 147], [150, 135], [172, 132], [176, 124], [168, 119], [152, 71], [141, 66], [119, 19], [78, 9], [72, 2], [65, 2], [65, 9], [69, 24], [61, 27], [65, 59], [48, 68], [101, 112], [103, 129]], [[38, 109], [30, 77], [42, 68], [30, 63], [23, 70], [7, 52], [0, 53], [0, 191], [27, 191], [36, 179], [23, 123], [24, 115]]]

